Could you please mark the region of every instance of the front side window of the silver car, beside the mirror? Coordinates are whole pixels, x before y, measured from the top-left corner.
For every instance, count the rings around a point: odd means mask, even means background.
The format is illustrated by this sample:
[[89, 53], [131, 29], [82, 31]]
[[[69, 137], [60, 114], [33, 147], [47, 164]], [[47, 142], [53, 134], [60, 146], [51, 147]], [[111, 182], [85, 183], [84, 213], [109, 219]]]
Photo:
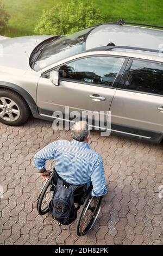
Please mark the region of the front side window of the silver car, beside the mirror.
[[70, 62], [59, 69], [60, 78], [74, 82], [111, 86], [124, 59], [87, 57]]

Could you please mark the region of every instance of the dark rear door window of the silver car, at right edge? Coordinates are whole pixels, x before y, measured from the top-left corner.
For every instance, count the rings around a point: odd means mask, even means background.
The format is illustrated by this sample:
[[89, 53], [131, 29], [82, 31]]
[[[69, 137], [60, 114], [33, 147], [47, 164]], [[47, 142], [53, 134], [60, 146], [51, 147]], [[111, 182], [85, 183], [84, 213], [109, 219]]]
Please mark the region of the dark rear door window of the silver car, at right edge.
[[133, 60], [124, 88], [163, 94], [163, 64]]

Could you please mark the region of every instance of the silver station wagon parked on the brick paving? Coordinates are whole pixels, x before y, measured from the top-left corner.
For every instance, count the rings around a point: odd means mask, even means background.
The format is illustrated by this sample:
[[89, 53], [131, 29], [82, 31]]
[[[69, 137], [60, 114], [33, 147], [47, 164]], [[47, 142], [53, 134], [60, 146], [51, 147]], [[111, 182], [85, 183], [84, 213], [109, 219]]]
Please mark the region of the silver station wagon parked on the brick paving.
[[105, 23], [68, 36], [1, 36], [0, 121], [21, 125], [30, 113], [54, 120], [53, 112], [65, 106], [79, 113], [105, 111], [106, 121], [111, 111], [112, 133], [161, 142], [162, 27], [126, 24]]

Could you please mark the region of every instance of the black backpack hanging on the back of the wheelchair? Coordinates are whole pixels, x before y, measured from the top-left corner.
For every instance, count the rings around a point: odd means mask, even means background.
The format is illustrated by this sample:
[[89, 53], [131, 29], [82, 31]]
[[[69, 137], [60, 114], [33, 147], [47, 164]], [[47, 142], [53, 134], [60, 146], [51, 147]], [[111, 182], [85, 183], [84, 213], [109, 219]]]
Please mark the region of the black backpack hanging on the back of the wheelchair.
[[55, 220], [61, 224], [69, 225], [77, 218], [77, 209], [74, 206], [73, 198], [73, 192], [77, 187], [77, 185], [66, 187], [64, 181], [58, 178], [49, 208]]

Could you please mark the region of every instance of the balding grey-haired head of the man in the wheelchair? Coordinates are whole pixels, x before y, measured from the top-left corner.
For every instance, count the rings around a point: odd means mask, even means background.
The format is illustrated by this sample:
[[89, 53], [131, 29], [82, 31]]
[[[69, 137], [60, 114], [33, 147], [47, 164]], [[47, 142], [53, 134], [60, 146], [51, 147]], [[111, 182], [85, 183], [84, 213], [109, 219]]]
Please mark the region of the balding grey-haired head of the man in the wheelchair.
[[80, 121], [73, 124], [71, 129], [72, 138], [79, 142], [89, 142], [90, 127], [86, 121]]

